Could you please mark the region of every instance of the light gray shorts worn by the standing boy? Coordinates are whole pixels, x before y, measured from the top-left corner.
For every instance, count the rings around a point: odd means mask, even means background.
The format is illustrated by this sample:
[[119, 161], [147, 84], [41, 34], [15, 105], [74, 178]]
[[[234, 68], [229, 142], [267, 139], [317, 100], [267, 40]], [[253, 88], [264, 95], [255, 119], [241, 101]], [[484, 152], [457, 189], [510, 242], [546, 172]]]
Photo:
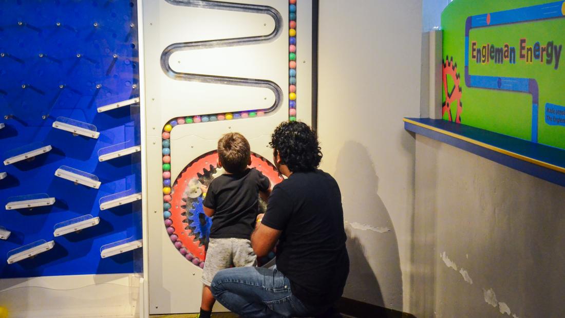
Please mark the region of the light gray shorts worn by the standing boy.
[[216, 273], [232, 267], [257, 265], [257, 255], [251, 247], [251, 241], [245, 238], [210, 238], [204, 262], [202, 282], [212, 284]]

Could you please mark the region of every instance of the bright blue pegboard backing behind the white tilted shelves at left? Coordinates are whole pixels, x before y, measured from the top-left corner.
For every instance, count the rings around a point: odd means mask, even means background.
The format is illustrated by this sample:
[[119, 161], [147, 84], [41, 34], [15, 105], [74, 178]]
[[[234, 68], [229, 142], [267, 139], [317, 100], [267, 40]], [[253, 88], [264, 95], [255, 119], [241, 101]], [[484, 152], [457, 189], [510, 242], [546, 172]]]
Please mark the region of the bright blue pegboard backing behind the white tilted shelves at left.
[[[141, 238], [141, 202], [100, 211], [100, 198], [141, 191], [140, 154], [98, 162], [98, 150], [140, 144], [137, 106], [98, 113], [97, 107], [139, 97], [137, 4], [124, 0], [0, 0], [0, 155], [33, 142], [53, 150], [32, 161], [0, 165], [0, 278], [140, 271], [134, 252], [101, 259], [100, 247]], [[98, 139], [52, 128], [56, 117], [93, 124]], [[5, 159], [5, 158], [2, 158]], [[99, 189], [55, 177], [61, 165], [98, 176]], [[47, 193], [54, 206], [7, 211], [15, 195]], [[61, 221], [92, 214], [100, 223], [53, 238]], [[45, 239], [55, 247], [8, 265], [6, 254]], [[138, 252], [136, 252], [138, 254]]]

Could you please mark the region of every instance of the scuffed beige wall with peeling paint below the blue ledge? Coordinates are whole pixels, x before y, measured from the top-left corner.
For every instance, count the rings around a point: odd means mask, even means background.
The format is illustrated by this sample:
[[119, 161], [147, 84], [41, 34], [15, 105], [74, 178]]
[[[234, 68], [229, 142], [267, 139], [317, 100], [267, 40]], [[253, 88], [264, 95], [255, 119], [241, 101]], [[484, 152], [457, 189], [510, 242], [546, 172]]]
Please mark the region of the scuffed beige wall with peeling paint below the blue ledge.
[[411, 312], [565, 316], [564, 203], [561, 186], [417, 136]]

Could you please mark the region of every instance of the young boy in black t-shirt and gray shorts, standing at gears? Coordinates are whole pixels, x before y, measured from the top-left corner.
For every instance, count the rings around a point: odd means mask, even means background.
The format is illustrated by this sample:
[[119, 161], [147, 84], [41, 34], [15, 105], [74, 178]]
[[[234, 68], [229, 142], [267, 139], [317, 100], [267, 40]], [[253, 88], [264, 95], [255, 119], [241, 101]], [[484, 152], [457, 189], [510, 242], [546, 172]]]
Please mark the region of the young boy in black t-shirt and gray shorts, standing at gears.
[[251, 164], [249, 142], [240, 133], [224, 134], [218, 141], [218, 168], [225, 173], [210, 183], [204, 199], [204, 212], [214, 216], [202, 282], [200, 318], [211, 315], [215, 299], [210, 291], [212, 278], [221, 269], [255, 266], [257, 255], [251, 247], [251, 233], [258, 214], [259, 197], [267, 201], [270, 181]]

